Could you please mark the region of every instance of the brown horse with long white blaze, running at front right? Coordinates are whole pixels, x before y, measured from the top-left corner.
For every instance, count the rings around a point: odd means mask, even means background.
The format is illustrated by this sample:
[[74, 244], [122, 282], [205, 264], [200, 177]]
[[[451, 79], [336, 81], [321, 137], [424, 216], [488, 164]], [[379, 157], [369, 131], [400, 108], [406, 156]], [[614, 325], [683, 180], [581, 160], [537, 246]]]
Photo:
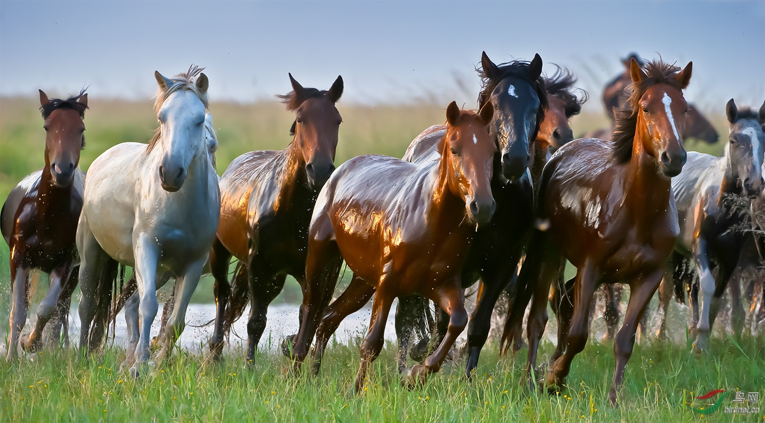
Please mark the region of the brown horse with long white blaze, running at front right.
[[546, 230], [534, 234], [519, 277], [530, 289], [514, 304], [507, 324], [522, 317], [533, 291], [526, 363], [531, 376], [547, 323], [550, 284], [564, 259], [577, 267], [568, 298], [559, 306], [558, 343], [566, 347], [545, 376], [550, 389], [565, 384], [571, 361], [587, 343], [597, 285], [628, 281], [630, 303], [614, 343], [617, 363], [608, 395], [617, 403], [637, 322], [659, 287], [679, 234], [670, 178], [685, 164], [682, 131], [688, 106], [682, 89], [691, 73], [692, 63], [680, 70], [661, 61], [641, 68], [632, 60], [630, 109], [617, 112], [614, 142], [579, 139], [558, 150], [545, 167], [538, 212]]

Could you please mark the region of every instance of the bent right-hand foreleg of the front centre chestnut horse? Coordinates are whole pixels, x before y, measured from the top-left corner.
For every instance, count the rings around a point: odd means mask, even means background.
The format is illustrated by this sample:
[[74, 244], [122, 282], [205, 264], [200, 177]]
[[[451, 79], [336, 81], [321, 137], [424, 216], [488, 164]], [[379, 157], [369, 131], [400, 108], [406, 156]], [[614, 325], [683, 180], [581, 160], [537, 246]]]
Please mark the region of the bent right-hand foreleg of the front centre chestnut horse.
[[[409, 380], [410, 385], [414, 383], [424, 383], [425, 379], [428, 378], [428, 375], [441, 370], [441, 365], [446, 359], [446, 354], [454, 345], [454, 342], [457, 340], [457, 337], [460, 336], [462, 330], [467, 326], [467, 311], [465, 311], [464, 306], [465, 296], [462, 292], [459, 277], [453, 278], [451, 281], [447, 281], [442, 285], [441, 288], [434, 292], [431, 300], [441, 306], [441, 309], [449, 314], [449, 326], [446, 330], [446, 336], [444, 336], [444, 339], [438, 344], [438, 348], [425, 358], [425, 363], [418, 364], [417, 366], [412, 367], [409, 371], [407, 379]], [[377, 301], [377, 298], [375, 298], [375, 301]], [[384, 318], [385, 317], [383, 316], [382, 319]], [[356, 377], [356, 386], [359, 386], [358, 377]]]

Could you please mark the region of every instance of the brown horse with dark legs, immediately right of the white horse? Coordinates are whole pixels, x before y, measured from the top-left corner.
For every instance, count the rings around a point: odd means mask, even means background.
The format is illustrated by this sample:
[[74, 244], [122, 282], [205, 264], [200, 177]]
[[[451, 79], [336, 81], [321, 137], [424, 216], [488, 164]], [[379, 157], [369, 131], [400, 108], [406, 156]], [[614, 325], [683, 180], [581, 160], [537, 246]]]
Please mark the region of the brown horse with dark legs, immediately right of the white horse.
[[[343, 94], [342, 77], [337, 76], [328, 91], [304, 88], [289, 77], [292, 91], [278, 98], [295, 111], [290, 145], [282, 151], [241, 155], [220, 178], [220, 223], [210, 252], [216, 301], [210, 351], [220, 356], [223, 336], [241, 315], [249, 294], [248, 363], [265, 329], [269, 304], [282, 291], [287, 275], [304, 285], [308, 223], [318, 191], [334, 171], [342, 122], [335, 107]], [[245, 264], [237, 268], [233, 295], [228, 281], [232, 255]]]

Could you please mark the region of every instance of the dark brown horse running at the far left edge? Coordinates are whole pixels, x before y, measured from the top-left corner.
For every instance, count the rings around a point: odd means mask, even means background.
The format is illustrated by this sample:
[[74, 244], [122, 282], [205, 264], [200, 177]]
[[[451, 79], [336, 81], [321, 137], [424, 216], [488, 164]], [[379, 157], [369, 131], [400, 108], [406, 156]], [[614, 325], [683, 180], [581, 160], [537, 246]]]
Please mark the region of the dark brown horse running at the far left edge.
[[[77, 286], [77, 220], [83, 208], [85, 174], [80, 151], [85, 148], [83, 118], [88, 108], [85, 90], [68, 99], [48, 99], [40, 90], [45, 123], [45, 167], [28, 175], [8, 194], [0, 212], [0, 228], [11, 247], [10, 335], [7, 360], [17, 356], [16, 343], [27, 321], [29, 274], [34, 268], [50, 274], [50, 289], [37, 311], [37, 324], [21, 339], [35, 351], [51, 317], [66, 320], [72, 291]], [[66, 327], [64, 328], [66, 330]], [[59, 330], [53, 330], [57, 342]]]

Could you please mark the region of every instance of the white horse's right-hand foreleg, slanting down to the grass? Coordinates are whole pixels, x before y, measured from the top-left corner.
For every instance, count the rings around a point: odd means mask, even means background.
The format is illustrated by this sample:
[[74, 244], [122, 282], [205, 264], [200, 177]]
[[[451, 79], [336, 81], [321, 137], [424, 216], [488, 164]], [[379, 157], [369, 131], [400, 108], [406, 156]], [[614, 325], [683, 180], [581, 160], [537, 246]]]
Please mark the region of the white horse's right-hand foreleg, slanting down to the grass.
[[185, 274], [175, 279], [173, 290], [175, 301], [171, 307], [172, 313], [170, 318], [168, 318], [168, 326], [164, 330], [164, 344], [157, 357], [157, 363], [164, 363], [164, 360], [170, 356], [175, 341], [181, 336], [186, 327], [186, 309], [191, 301], [191, 295], [194, 294], [194, 290], [197, 289], [199, 284], [204, 262], [205, 258], [190, 263], [186, 268]]

